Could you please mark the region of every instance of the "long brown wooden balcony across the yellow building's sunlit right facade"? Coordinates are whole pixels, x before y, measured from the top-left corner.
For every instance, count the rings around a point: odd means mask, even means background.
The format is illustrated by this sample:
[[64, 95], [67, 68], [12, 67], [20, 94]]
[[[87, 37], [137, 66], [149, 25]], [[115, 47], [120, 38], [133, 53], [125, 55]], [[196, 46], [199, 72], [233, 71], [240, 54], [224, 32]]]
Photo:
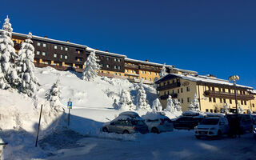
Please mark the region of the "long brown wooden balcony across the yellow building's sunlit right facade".
[[[226, 98], [226, 99], [234, 99], [234, 94], [233, 93], [228, 93], [228, 92], [220, 92], [220, 91], [214, 91], [214, 90], [206, 90], [205, 91], [205, 96], [206, 97], [214, 97], [214, 98]], [[248, 94], [237, 94], [237, 98], [239, 100], [252, 100], [254, 99], [253, 95], [248, 95]]]

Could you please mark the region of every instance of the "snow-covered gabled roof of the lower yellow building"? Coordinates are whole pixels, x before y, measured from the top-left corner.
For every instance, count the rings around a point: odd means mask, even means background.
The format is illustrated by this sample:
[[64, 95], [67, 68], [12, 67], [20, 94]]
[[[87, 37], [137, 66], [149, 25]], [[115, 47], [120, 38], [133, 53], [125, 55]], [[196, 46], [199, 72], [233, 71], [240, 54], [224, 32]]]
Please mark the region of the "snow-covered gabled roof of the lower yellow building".
[[[233, 83], [229, 82], [228, 80], [225, 79], [220, 79], [220, 78], [210, 78], [204, 75], [184, 75], [184, 74], [166, 74], [166, 76], [158, 79], [155, 83], [160, 83], [160, 82], [164, 82], [168, 79], [171, 78], [182, 78], [182, 79], [186, 79], [188, 81], [193, 81], [193, 82], [204, 82], [204, 83], [212, 83], [212, 84], [219, 84], [219, 85], [226, 85], [226, 86], [234, 86]], [[253, 90], [254, 88], [251, 86], [242, 86], [242, 85], [236, 85], [238, 87], [242, 87], [242, 88], [246, 88], [246, 89], [250, 89]]]

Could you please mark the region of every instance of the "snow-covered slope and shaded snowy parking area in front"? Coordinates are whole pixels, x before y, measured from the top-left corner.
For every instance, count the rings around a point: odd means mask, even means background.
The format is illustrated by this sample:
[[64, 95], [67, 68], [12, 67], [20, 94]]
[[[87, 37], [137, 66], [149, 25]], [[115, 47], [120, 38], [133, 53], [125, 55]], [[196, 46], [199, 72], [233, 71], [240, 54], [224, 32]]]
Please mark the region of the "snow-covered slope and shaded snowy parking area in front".
[[[162, 134], [106, 134], [102, 124], [120, 114], [114, 110], [122, 90], [130, 91], [136, 103], [138, 84], [122, 79], [82, 80], [82, 74], [37, 68], [38, 100], [15, 90], [0, 90], [0, 138], [9, 144], [2, 159], [240, 159], [255, 156], [251, 134], [240, 139], [198, 140], [192, 131]], [[59, 78], [62, 106], [50, 107], [46, 92]], [[153, 86], [144, 86], [147, 100], [157, 98]], [[71, 99], [70, 126], [66, 103]], [[34, 147], [40, 106], [43, 105], [39, 147]], [[146, 110], [137, 111], [141, 116]], [[180, 113], [179, 113], [180, 114]], [[166, 113], [175, 118], [179, 114]], [[232, 147], [230, 147], [232, 146]]]

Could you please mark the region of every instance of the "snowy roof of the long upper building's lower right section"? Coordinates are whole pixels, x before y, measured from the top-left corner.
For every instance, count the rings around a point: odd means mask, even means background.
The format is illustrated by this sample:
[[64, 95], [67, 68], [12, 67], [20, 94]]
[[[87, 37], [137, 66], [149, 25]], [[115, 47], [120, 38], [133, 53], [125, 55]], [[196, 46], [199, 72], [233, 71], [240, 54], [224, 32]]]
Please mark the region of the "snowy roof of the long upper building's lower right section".
[[164, 65], [164, 64], [161, 64], [161, 63], [147, 62], [147, 61], [142, 61], [142, 60], [137, 60], [137, 59], [132, 59], [132, 58], [125, 58], [125, 61], [138, 62], [138, 63], [142, 63], [142, 64], [146, 64], [146, 65], [152, 65], [152, 66], [161, 66], [161, 67], [166, 66], [167, 68], [170, 68], [170, 70], [178, 70], [178, 71], [186, 72], [186, 73], [190, 73], [190, 74], [198, 74], [198, 72], [193, 71], [193, 70], [178, 69], [174, 65]]

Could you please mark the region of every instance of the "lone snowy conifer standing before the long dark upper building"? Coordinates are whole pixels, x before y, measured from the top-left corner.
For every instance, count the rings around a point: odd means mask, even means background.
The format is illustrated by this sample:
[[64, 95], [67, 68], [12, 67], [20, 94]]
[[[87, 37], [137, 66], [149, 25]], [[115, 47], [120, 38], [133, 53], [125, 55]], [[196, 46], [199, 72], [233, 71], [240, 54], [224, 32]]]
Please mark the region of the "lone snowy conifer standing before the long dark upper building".
[[86, 81], [94, 81], [94, 79], [98, 76], [98, 70], [100, 66], [98, 64], [98, 59], [96, 58], [95, 51], [90, 53], [90, 56], [87, 58], [85, 62], [85, 69], [82, 72], [82, 79]]

